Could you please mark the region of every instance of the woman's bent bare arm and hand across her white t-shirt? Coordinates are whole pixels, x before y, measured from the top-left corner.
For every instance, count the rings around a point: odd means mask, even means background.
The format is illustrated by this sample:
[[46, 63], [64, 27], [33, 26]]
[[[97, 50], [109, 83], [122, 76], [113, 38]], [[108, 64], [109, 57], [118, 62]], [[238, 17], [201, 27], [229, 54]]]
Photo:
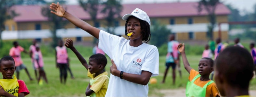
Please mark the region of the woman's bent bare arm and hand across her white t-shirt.
[[[110, 73], [120, 77], [121, 71], [117, 70], [116, 64], [111, 59], [112, 66], [110, 66]], [[152, 73], [148, 71], [142, 71], [141, 74], [123, 73], [123, 79], [129, 82], [134, 82], [142, 85], [147, 85]]]

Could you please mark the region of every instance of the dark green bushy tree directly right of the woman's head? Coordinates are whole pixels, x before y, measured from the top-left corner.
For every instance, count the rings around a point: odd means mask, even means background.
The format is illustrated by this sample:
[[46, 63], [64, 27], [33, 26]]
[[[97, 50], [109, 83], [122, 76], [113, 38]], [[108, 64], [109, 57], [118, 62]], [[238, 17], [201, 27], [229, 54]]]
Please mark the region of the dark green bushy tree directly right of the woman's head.
[[152, 20], [150, 28], [151, 37], [150, 44], [160, 47], [162, 44], [167, 43], [168, 35], [171, 34], [171, 30], [166, 28], [166, 25], [161, 25], [158, 21]]

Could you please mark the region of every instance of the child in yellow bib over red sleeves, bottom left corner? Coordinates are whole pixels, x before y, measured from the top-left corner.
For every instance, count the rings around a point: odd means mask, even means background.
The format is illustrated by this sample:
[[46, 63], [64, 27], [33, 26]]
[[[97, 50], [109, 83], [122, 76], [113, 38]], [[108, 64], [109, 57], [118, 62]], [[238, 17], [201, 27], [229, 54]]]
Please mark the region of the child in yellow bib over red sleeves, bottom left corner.
[[0, 79], [0, 96], [26, 96], [30, 92], [22, 80], [17, 80], [15, 75], [15, 61], [10, 56], [5, 56], [0, 60], [0, 72], [3, 79]]

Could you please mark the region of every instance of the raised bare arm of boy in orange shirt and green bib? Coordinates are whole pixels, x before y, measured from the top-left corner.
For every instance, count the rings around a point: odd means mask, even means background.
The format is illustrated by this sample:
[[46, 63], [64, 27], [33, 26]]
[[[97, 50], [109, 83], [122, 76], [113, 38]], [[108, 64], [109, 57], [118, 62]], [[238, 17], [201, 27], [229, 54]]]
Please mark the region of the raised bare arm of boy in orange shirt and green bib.
[[182, 61], [184, 64], [185, 69], [187, 70], [188, 73], [190, 73], [190, 70], [192, 69], [187, 61], [186, 53], [185, 53], [185, 44], [179, 44], [177, 49], [181, 53], [182, 56]]

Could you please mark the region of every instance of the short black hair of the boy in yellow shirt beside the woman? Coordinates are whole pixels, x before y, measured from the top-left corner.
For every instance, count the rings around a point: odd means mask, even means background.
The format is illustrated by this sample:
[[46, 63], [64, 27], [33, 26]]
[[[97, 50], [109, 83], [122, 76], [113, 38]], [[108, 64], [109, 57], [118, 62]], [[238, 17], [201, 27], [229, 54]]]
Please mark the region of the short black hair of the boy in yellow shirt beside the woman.
[[104, 67], [107, 65], [108, 61], [105, 55], [101, 53], [96, 53], [90, 56], [89, 59], [94, 60], [97, 64], [102, 64]]

